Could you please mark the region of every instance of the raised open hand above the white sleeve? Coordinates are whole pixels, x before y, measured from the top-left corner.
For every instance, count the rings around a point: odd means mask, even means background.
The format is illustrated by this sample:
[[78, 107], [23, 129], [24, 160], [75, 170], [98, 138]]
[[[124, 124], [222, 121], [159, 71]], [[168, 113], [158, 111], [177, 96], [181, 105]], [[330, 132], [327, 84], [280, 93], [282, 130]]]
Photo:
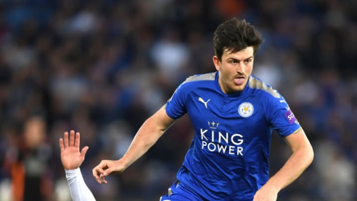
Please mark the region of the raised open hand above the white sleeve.
[[84, 160], [84, 156], [89, 147], [85, 146], [81, 152], [79, 152], [79, 141], [80, 134], [77, 132], [74, 139], [74, 131], [70, 131], [69, 141], [68, 132], [64, 132], [64, 140], [60, 138], [61, 162], [66, 170], [78, 168]]

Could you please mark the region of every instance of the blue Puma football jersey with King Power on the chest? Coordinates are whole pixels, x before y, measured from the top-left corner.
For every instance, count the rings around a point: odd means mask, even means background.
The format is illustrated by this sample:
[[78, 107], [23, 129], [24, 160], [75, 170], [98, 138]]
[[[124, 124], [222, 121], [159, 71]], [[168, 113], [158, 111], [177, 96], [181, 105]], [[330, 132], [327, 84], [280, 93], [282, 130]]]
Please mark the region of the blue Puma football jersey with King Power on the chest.
[[252, 200], [269, 177], [272, 130], [284, 137], [301, 127], [278, 91], [257, 77], [225, 94], [218, 76], [188, 77], [166, 104], [169, 117], [187, 113], [194, 127], [177, 179], [204, 200]]

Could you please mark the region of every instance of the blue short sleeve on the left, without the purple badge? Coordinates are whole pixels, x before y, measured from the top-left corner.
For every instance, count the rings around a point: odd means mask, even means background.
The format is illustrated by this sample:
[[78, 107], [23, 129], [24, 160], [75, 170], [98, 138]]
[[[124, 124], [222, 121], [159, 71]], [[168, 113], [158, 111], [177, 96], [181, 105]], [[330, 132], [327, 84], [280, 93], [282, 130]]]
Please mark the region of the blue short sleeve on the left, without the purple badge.
[[186, 113], [185, 99], [186, 91], [184, 90], [183, 84], [175, 90], [172, 97], [166, 103], [166, 113], [169, 117], [173, 119], [178, 119]]

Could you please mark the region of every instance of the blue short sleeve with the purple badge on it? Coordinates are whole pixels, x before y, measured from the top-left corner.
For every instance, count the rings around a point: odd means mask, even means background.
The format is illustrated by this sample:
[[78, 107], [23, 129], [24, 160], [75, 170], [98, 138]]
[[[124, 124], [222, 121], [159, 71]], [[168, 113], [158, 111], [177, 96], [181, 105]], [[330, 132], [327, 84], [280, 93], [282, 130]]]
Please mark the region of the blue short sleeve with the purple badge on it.
[[296, 133], [301, 129], [297, 118], [281, 95], [280, 98], [270, 97], [268, 99], [266, 114], [272, 129], [276, 130], [282, 137]]

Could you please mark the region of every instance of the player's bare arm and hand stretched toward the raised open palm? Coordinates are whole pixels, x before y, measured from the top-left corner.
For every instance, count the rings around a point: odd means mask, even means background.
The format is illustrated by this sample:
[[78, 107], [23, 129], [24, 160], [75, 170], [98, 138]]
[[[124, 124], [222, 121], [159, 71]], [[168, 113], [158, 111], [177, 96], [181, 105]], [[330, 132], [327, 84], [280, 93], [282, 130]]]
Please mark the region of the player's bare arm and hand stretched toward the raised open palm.
[[119, 160], [102, 160], [93, 168], [93, 177], [99, 184], [106, 184], [105, 176], [121, 173], [139, 159], [175, 122], [167, 115], [165, 107], [166, 105], [143, 123], [122, 158]]

